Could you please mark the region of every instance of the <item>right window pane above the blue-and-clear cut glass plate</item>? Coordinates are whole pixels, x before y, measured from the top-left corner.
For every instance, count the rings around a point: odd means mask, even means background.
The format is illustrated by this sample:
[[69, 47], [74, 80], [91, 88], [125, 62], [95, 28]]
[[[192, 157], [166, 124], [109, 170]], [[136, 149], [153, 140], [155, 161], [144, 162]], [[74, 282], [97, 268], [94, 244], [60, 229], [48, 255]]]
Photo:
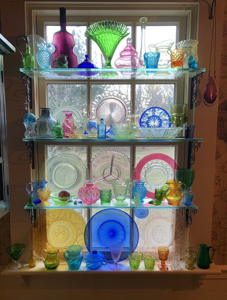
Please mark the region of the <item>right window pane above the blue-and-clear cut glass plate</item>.
[[170, 114], [170, 104], [174, 103], [174, 84], [137, 84], [135, 93], [135, 113], [142, 113], [150, 107], [161, 107]]

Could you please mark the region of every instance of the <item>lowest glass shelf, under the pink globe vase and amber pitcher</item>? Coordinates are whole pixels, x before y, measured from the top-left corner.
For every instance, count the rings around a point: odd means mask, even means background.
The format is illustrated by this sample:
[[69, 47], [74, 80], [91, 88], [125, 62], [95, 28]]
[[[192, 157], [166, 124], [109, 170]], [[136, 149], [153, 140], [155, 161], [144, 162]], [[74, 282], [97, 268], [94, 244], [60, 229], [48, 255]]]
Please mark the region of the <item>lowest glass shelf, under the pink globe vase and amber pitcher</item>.
[[50, 198], [48, 202], [50, 203], [50, 206], [39, 206], [39, 204], [35, 204], [35, 206], [29, 206], [28, 204], [25, 205], [25, 209], [60, 209], [60, 208], [72, 208], [72, 209], [87, 209], [87, 208], [99, 208], [99, 209], [106, 209], [106, 208], [116, 208], [116, 209], [127, 209], [127, 208], [139, 208], [139, 209], [198, 209], [198, 206], [196, 206], [194, 203], [192, 205], [185, 205], [181, 204], [177, 206], [169, 205], [167, 201], [162, 201], [161, 205], [153, 205], [149, 204], [148, 202], [151, 200], [150, 198], [146, 198], [144, 200], [144, 204], [135, 205], [134, 204], [134, 198], [127, 198], [126, 201], [128, 201], [128, 205], [125, 206], [116, 206], [113, 205], [113, 201], [111, 201], [110, 205], [101, 205], [100, 200], [98, 200], [96, 203], [93, 204], [85, 204], [85, 203], [77, 203], [77, 205], [74, 205], [74, 201], [81, 201], [78, 198], [74, 198], [72, 202], [68, 202], [67, 204], [56, 204], [53, 202], [53, 200]]

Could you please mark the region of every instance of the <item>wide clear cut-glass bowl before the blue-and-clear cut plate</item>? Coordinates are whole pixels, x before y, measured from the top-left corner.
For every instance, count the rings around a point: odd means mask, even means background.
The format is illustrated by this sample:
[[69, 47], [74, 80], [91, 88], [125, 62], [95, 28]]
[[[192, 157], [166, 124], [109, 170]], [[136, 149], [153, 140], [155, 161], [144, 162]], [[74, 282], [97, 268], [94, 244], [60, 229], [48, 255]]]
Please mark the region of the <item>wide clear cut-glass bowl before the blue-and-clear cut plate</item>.
[[174, 138], [182, 127], [176, 128], [139, 128], [139, 131], [147, 138]]

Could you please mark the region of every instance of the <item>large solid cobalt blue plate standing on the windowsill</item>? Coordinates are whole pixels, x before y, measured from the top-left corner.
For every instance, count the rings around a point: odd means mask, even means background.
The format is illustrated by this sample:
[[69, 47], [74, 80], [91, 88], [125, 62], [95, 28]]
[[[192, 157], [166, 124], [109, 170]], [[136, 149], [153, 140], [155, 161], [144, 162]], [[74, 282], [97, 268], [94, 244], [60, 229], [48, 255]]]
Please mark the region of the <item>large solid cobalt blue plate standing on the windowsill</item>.
[[139, 241], [139, 231], [135, 221], [119, 209], [104, 209], [89, 220], [84, 240], [88, 251], [102, 252], [108, 263], [113, 263], [109, 243], [124, 243], [119, 261], [135, 251]]

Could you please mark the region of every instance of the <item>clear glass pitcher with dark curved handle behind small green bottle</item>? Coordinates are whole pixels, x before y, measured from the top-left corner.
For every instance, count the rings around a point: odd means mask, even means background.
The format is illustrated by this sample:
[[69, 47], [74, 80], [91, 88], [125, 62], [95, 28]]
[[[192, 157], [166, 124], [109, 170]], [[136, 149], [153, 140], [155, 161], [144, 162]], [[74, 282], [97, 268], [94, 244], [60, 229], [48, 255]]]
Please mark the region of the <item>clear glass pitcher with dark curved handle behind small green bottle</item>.
[[23, 39], [25, 40], [26, 43], [26, 47], [30, 48], [30, 53], [34, 56], [35, 61], [34, 61], [34, 68], [39, 68], [39, 65], [37, 64], [36, 61], [36, 54], [39, 51], [39, 49], [37, 48], [37, 45], [39, 43], [46, 43], [46, 41], [44, 40], [44, 38], [42, 36], [38, 36], [36, 34], [31, 34], [29, 36], [25, 36], [25, 35], [20, 35], [16, 37], [16, 45], [17, 48], [19, 49], [22, 57], [24, 55], [21, 47], [19, 46], [19, 39]]

